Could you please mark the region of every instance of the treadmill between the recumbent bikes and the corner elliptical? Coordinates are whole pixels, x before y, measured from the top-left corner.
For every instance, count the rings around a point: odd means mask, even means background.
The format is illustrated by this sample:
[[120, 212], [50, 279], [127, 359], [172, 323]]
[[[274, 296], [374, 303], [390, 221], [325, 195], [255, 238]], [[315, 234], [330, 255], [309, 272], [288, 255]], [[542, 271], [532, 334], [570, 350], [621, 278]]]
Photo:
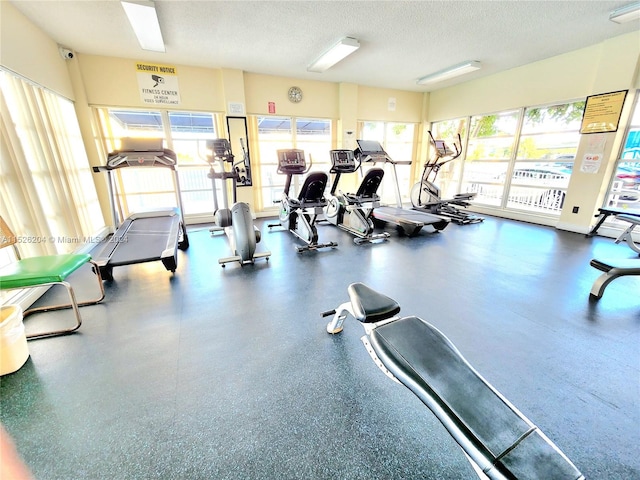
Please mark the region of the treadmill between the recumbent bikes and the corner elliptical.
[[411, 162], [395, 162], [384, 151], [380, 142], [375, 140], [356, 140], [358, 148], [354, 150], [356, 158], [361, 163], [389, 163], [393, 181], [396, 184], [396, 206], [383, 205], [373, 209], [373, 218], [380, 223], [388, 223], [399, 227], [405, 235], [416, 235], [425, 225], [431, 225], [437, 231], [444, 230], [449, 225], [449, 220], [437, 215], [417, 210], [408, 210], [402, 207], [400, 196], [400, 184], [396, 173], [397, 164], [410, 164]]

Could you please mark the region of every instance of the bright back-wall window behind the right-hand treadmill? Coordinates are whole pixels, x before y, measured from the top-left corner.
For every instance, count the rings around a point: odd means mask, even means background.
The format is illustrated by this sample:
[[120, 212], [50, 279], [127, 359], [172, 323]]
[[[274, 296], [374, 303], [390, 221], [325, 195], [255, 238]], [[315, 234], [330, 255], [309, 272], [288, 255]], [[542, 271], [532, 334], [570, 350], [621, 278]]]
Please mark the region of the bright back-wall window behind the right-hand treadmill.
[[[415, 152], [415, 125], [413, 123], [394, 122], [359, 122], [359, 135], [361, 140], [375, 140], [380, 142], [382, 148], [395, 161], [397, 185], [394, 184], [390, 165], [385, 165], [385, 177], [378, 190], [380, 199], [385, 204], [396, 203], [396, 191], [399, 188], [403, 203], [410, 201], [411, 194], [411, 161]], [[366, 165], [364, 166], [367, 167]], [[382, 168], [382, 165], [377, 165]]]

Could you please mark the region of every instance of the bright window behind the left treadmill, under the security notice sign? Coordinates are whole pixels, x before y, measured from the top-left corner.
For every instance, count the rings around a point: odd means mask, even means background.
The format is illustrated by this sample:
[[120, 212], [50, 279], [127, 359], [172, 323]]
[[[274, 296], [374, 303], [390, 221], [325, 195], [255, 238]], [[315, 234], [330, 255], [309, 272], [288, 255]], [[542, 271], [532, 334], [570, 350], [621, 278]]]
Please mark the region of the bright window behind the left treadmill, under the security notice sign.
[[[217, 138], [216, 114], [100, 108], [107, 150], [119, 148], [124, 137], [163, 138], [176, 153], [185, 217], [213, 214], [213, 192], [207, 177], [206, 141]], [[123, 215], [176, 206], [176, 186], [166, 169], [131, 168], [117, 171], [117, 199]], [[221, 186], [217, 185], [219, 191]], [[220, 192], [219, 192], [220, 194]]]

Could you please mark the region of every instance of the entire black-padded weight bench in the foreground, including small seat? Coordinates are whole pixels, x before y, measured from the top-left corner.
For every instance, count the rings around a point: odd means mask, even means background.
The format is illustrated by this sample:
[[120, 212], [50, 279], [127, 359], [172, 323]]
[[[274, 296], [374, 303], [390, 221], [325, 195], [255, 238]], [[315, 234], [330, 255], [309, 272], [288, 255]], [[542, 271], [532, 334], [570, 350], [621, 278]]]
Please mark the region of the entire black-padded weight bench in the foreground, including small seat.
[[400, 318], [398, 303], [362, 283], [335, 310], [327, 332], [342, 331], [347, 314], [365, 329], [376, 365], [411, 390], [440, 420], [482, 479], [577, 480], [584, 476], [531, 421], [492, 387], [439, 330]]

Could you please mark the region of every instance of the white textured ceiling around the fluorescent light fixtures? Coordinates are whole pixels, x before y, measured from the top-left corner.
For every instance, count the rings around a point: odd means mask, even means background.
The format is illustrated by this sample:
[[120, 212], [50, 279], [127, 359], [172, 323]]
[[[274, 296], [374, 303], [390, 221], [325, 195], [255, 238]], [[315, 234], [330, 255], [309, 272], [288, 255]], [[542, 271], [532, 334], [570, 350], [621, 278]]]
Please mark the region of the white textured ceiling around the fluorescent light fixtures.
[[[6, 1], [6, 0], [3, 0]], [[78, 53], [401, 90], [428, 91], [587, 47], [629, 32], [609, 12], [631, 0], [156, 0], [166, 53], [141, 50], [118, 0], [12, 0]], [[324, 73], [306, 67], [332, 43], [360, 49]], [[418, 77], [467, 60], [483, 68], [435, 86]]]

